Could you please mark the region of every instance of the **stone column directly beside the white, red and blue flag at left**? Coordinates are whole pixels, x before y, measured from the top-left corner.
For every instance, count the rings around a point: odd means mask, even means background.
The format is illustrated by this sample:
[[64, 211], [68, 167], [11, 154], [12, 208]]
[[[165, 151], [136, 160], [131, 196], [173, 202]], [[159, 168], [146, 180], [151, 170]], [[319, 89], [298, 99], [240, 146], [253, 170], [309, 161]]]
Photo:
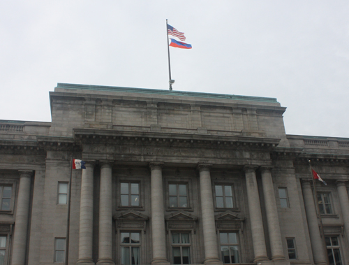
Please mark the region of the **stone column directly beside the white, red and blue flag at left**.
[[82, 169], [80, 199], [79, 259], [77, 263], [94, 264], [92, 239], [94, 228], [94, 163], [86, 162]]

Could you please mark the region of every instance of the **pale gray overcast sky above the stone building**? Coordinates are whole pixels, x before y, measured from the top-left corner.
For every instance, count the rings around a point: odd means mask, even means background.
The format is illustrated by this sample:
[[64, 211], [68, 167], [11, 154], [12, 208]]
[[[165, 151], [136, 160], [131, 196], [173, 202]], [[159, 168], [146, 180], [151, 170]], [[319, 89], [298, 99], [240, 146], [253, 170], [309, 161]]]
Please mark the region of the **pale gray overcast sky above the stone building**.
[[287, 134], [349, 138], [349, 1], [0, 1], [0, 119], [51, 121], [57, 83], [276, 97]]

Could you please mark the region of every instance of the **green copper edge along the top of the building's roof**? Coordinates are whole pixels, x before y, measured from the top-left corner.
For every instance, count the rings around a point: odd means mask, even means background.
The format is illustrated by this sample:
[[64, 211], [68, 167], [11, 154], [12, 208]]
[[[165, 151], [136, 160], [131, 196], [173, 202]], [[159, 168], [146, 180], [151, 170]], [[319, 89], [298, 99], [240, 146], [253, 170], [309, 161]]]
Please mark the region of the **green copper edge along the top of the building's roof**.
[[142, 93], [142, 94], [163, 94], [168, 96], [198, 96], [211, 99], [235, 99], [243, 101], [260, 101], [260, 102], [272, 102], [278, 103], [276, 98], [260, 97], [260, 96], [239, 96], [230, 94], [214, 94], [214, 93], [202, 93], [202, 92], [184, 92], [184, 91], [169, 91], [163, 89], [150, 89], [150, 88], [135, 88], [135, 87], [110, 87], [103, 85], [78, 85], [78, 84], [66, 84], [57, 83], [57, 88], [64, 89], [82, 89], [82, 90], [99, 90], [99, 91], [115, 91], [115, 92], [128, 92], [128, 93]]

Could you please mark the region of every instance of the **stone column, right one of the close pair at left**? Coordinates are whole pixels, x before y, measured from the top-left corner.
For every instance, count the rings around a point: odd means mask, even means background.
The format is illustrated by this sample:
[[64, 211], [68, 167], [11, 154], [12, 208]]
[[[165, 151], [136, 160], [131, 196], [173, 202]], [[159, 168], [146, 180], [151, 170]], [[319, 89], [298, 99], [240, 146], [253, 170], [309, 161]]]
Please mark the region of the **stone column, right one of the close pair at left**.
[[112, 163], [101, 163], [99, 193], [99, 242], [97, 264], [114, 264], [112, 260]]

